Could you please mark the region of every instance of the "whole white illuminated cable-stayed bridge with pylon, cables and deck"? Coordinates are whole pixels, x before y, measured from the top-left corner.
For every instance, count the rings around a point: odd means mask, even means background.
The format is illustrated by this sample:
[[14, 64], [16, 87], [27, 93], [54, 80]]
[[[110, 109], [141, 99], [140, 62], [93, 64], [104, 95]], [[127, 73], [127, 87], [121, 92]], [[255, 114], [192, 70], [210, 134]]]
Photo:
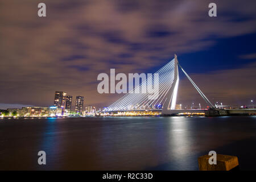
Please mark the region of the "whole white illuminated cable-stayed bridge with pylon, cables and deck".
[[[179, 90], [179, 68], [207, 103], [210, 110], [176, 108], [177, 93]], [[147, 90], [147, 92], [142, 91], [138, 93], [135, 92], [136, 90]], [[153, 93], [152, 90], [157, 90], [157, 94]], [[199, 89], [191, 77], [189, 77], [189, 75], [181, 67], [176, 55], [174, 56], [174, 59], [164, 65], [164, 67], [160, 68], [154, 74], [154, 77], [150, 76], [147, 78], [147, 80], [142, 81], [141, 84], [135, 86], [135, 88], [130, 90], [129, 93], [125, 94], [125, 96], [119, 98], [119, 100], [115, 101], [112, 105], [106, 107], [102, 113], [126, 111], [159, 111], [163, 115], [179, 113], [205, 113], [208, 115], [227, 114], [226, 110], [214, 107], [214, 105], [208, 100], [208, 98]]]

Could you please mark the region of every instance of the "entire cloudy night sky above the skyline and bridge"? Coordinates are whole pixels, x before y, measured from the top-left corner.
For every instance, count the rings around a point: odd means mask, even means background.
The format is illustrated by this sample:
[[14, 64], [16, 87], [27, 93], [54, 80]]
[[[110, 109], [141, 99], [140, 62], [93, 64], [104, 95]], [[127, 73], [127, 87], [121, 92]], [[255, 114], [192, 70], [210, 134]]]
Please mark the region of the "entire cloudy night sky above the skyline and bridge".
[[[0, 2], [0, 109], [53, 105], [56, 90], [108, 106], [121, 94], [99, 94], [97, 75], [154, 73], [177, 54], [210, 101], [255, 100], [256, 1]], [[180, 72], [177, 104], [204, 105]], [[74, 105], [75, 102], [73, 102]], [[256, 104], [256, 100], [255, 100]]]

